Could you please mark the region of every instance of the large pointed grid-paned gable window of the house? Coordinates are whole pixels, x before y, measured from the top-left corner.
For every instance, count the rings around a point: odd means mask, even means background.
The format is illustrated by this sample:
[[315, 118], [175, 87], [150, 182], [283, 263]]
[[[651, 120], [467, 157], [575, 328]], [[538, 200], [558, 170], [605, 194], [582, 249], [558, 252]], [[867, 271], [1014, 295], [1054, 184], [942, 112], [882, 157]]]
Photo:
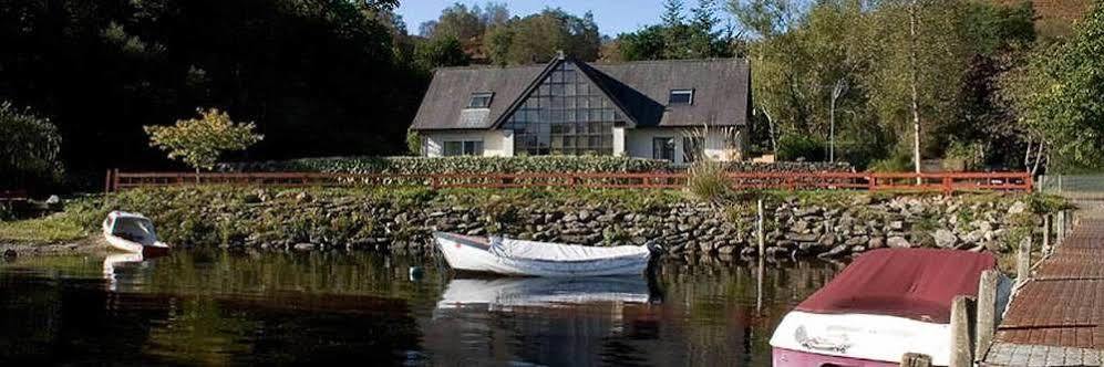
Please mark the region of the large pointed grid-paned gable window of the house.
[[623, 117], [613, 104], [565, 62], [507, 119], [516, 154], [612, 155], [613, 125]]

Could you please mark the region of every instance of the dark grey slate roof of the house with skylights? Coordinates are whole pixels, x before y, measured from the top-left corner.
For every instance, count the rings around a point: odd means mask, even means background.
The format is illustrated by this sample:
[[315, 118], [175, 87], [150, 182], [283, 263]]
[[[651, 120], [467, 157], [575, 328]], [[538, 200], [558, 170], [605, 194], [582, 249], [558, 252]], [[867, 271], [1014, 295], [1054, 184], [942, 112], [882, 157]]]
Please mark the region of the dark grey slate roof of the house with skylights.
[[[415, 129], [492, 128], [504, 120], [515, 101], [539, 82], [546, 65], [443, 67], [414, 117]], [[750, 70], [742, 59], [644, 61], [617, 64], [576, 62], [615, 99], [636, 127], [746, 125]], [[694, 90], [693, 105], [667, 106], [671, 90]], [[465, 111], [472, 93], [494, 92], [491, 108]]]

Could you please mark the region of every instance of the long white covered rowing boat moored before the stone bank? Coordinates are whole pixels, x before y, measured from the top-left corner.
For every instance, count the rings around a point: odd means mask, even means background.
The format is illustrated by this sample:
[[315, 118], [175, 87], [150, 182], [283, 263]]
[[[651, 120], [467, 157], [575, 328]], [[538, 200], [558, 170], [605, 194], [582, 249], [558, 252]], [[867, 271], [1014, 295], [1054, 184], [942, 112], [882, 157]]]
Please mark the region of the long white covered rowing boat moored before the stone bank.
[[647, 245], [585, 247], [434, 232], [448, 265], [460, 271], [518, 276], [641, 275]]

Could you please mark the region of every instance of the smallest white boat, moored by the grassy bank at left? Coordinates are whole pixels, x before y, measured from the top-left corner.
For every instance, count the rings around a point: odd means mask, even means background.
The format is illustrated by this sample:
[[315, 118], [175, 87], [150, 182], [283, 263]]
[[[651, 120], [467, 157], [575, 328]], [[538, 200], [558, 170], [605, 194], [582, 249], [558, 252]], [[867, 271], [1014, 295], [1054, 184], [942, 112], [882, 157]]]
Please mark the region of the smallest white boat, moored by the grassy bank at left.
[[147, 258], [168, 253], [168, 244], [157, 240], [153, 221], [138, 213], [112, 211], [103, 221], [103, 237], [116, 250]]

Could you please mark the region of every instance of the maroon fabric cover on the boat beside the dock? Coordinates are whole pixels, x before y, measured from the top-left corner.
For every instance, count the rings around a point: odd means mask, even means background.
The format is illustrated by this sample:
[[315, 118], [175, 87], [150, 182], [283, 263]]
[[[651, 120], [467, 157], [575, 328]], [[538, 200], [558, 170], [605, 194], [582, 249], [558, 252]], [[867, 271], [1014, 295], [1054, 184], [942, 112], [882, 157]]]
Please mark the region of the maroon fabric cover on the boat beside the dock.
[[981, 272], [995, 269], [988, 253], [881, 249], [859, 255], [832, 282], [797, 305], [819, 314], [874, 314], [950, 323], [956, 295], [978, 295]]

